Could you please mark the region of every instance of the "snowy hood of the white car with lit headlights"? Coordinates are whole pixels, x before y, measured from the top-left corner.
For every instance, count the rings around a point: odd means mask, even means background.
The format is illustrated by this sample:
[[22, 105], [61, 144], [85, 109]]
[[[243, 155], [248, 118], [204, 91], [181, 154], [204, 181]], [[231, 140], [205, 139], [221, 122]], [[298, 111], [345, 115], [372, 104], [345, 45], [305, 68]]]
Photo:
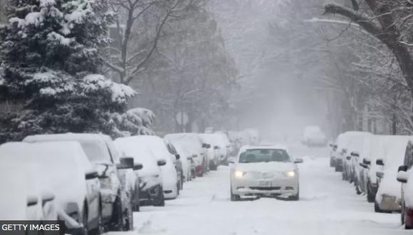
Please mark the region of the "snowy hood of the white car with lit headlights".
[[293, 162], [254, 162], [236, 164], [236, 170], [241, 172], [286, 172], [297, 169]]

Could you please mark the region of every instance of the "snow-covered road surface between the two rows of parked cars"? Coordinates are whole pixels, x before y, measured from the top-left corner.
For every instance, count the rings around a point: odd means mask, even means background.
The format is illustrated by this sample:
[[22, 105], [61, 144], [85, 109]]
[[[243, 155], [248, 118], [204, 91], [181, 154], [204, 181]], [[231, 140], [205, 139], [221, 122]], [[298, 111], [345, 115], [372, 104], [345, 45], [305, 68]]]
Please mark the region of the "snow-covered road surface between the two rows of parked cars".
[[142, 207], [134, 215], [135, 231], [125, 234], [410, 234], [400, 226], [399, 214], [375, 213], [365, 197], [341, 181], [328, 167], [327, 150], [310, 156], [296, 154], [305, 161], [300, 164], [299, 202], [230, 202], [229, 168], [220, 167], [187, 183], [179, 199], [166, 207]]

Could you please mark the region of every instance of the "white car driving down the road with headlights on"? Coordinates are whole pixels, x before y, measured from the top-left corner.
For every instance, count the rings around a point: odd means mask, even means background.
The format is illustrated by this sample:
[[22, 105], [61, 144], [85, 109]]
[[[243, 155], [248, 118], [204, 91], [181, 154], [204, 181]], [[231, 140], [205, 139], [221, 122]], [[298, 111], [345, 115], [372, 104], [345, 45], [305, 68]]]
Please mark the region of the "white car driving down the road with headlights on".
[[283, 146], [241, 147], [231, 167], [231, 201], [243, 196], [300, 198], [299, 172]]

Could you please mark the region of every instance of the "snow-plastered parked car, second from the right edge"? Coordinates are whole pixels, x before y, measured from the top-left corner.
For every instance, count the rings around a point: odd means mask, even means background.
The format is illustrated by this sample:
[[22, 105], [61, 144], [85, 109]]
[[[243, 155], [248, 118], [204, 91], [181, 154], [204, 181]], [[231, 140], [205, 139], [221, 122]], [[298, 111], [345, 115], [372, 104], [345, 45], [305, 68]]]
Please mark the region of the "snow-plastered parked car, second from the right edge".
[[397, 182], [397, 170], [404, 164], [409, 136], [391, 135], [385, 137], [385, 157], [377, 159], [378, 189], [375, 197], [376, 212], [400, 211], [401, 187]]

